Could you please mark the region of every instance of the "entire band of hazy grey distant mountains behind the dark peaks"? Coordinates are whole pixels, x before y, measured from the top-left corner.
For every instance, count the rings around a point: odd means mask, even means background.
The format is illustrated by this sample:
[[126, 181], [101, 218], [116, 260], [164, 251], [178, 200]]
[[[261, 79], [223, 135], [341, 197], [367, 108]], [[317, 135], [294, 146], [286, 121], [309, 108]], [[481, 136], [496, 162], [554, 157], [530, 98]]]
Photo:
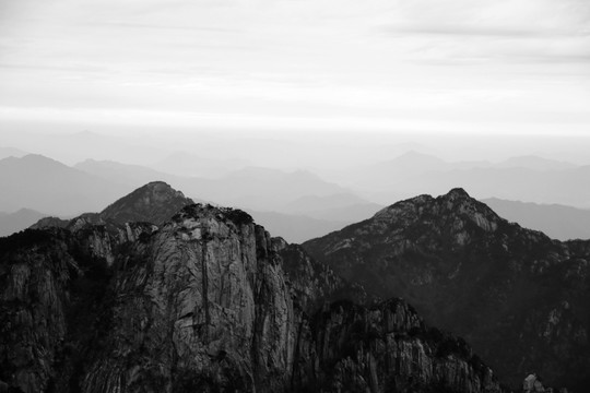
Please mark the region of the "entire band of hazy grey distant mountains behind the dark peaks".
[[[4, 150], [25, 154], [15, 148]], [[585, 196], [590, 191], [582, 181], [587, 172], [590, 167], [535, 156], [514, 157], [497, 164], [447, 163], [415, 152], [371, 167], [373, 177], [381, 179], [384, 187], [387, 182], [399, 184], [394, 192], [378, 193], [381, 199], [389, 195], [388, 200], [398, 200], [412, 192], [436, 193], [456, 183], [471, 184], [469, 189], [474, 195], [495, 196], [484, 200], [508, 219], [560, 240], [590, 237], [587, 210], [507, 199], [520, 195], [518, 199], [523, 200], [521, 196], [528, 195], [524, 200], [529, 202], [565, 200], [573, 205], [585, 205], [590, 198], [590, 194]], [[369, 178], [367, 175], [364, 180]], [[382, 207], [304, 170], [285, 172], [247, 167], [219, 178], [198, 178], [108, 160], [86, 159], [69, 167], [40, 155], [26, 154], [0, 160], [0, 181], [5, 187], [0, 206], [5, 212], [30, 209], [49, 215], [73, 216], [83, 211], [96, 211], [114, 195], [154, 180], [184, 189], [196, 201], [246, 209], [273, 231], [297, 242], [366, 219]], [[0, 226], [5, 228], [3, 234], [9, 234], [10, 228], [25, 228], [31, 222], [25, 216], [0, 216]]]

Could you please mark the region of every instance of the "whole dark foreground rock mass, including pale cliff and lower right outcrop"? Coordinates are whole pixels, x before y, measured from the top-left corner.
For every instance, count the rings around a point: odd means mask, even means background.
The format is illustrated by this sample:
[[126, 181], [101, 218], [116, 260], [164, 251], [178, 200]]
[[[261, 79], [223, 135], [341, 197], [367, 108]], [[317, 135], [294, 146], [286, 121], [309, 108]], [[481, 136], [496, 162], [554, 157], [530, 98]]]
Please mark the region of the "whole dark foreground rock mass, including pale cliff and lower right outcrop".
[[27, 393], [500, 391], [464, 342], [401, 300], [320, 306], [347, 284], [300, 250], [285, 267], [290, 246], [244, 212], [189, 205], [126, 228], [0, 239], [0, 381]]

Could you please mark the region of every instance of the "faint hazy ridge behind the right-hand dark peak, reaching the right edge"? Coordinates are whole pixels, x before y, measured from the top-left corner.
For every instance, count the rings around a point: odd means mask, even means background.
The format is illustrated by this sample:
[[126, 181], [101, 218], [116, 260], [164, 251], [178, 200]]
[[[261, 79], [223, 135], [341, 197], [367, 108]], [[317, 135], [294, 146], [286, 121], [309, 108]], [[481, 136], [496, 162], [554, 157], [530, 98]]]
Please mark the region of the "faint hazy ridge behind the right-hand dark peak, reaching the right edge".
[[387, 203], [416, 194], [440, 194], [463, 187], [479, 199], [499, 198], [590, 207], [590, 166], [536, 156], [449, 163], [409, 152], [392, 160], [352, 170], [346, 186]]

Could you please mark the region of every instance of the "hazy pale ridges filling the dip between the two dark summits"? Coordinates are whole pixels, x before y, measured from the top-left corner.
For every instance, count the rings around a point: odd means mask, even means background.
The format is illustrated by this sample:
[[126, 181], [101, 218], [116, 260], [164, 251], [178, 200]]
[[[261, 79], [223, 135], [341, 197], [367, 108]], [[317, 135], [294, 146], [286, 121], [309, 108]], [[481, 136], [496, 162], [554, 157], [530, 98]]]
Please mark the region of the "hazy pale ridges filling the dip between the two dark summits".
[[[302, 242], [365, 219], [382, 206], [370, 203], [308, 171], [244, 168], [220, 179], [180, 177], [146, 167], [85, 160], [75, 168], [105, 179], [138, 186], [163, 179], [189, 190], [198, 201], [234, 204], [290, 242]], [[269, 211], [274, 210], [274, 211]]]

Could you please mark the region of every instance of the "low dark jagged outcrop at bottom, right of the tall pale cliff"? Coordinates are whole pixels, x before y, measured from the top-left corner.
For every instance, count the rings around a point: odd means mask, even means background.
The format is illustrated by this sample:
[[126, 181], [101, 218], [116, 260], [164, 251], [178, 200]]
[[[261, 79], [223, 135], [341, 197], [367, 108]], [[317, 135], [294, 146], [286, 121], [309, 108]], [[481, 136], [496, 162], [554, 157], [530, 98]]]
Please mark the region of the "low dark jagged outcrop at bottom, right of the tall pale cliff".
[[334, 302], [310, 331], [297, 343], [297, 392], [500, 391], [464, 341], [425, 327], [400, 299], [371, 308]]

